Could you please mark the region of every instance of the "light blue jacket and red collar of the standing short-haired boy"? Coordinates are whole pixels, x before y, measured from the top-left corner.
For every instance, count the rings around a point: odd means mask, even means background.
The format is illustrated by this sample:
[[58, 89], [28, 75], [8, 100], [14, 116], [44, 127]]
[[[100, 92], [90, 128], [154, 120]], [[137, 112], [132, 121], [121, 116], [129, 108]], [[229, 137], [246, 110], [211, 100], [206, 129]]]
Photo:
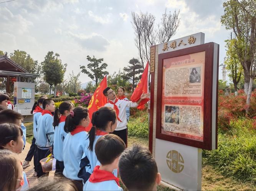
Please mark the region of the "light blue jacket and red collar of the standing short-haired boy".
[[36, 146], [42, 150], [48, 150], [53, 146], [54, 129], [51, 112], [44, 110], [37, 125]]

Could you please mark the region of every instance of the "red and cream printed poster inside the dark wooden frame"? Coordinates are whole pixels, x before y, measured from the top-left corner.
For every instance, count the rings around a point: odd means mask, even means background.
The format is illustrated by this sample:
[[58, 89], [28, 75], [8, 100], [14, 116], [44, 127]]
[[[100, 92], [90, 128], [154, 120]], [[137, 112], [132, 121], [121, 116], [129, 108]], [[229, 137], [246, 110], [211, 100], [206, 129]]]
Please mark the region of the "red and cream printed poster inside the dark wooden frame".
[[161, 133], [203, 141], [205, 51], [163, 60]]

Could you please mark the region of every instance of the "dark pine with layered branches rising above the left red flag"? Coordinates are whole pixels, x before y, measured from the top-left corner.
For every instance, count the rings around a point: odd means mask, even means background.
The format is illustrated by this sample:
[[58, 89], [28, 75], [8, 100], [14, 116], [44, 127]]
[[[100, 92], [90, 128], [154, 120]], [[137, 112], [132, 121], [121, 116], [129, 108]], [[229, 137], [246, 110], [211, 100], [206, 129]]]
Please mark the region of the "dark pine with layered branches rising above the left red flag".
[[87, 65], [87, 68], [91, 70], [91, 72], [86, 69], [86, 66], [81, 66], [80, 69], [82, 69], [82, 72], [87, 74], [93, 81], [96, 83], [96, 87], [98, 87], [98, 83], [101, 79], [104, 78], [105, 75], [109, 74], [108, 71], [106, 71], [107, 64], [102, 63], [103, 58], [97, 59], [97, 58], [91, 58], [90, 56], [87, 56], [87, 60], [90, 62]]

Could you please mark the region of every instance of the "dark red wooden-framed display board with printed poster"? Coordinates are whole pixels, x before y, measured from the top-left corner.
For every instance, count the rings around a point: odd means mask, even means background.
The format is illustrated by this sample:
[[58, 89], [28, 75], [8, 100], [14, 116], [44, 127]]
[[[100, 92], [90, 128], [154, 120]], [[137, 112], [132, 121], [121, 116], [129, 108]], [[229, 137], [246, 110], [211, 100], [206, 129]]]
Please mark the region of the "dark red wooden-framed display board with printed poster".
[[217, 147], [217, 58], [213, 42], [158, 55], [156, 138]]

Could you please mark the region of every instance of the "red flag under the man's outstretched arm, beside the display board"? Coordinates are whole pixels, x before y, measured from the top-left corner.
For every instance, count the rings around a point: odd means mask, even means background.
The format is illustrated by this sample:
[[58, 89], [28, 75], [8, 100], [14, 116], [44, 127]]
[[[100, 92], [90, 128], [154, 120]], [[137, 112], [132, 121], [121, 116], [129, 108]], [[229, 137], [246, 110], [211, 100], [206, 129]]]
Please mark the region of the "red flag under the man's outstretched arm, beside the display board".
[[[138, 83], [134, 92], [132, 93], [132, 96], [130, 97], [130, 100], [132, 102], [137, 102], [140, 99], [142, 92], [148, 93], [148, 87], [147, 87], [148, 73], [149, 73], [149, 61], [147, 62], [146, 68], [141, 76], [140, 82]], [[149, 98], [143, 99], [140, 102], [140, 104], [137, 106], [137, 108], [144, 109], [145, 103], [147, 103], [148, 101], [149, 101]]]

